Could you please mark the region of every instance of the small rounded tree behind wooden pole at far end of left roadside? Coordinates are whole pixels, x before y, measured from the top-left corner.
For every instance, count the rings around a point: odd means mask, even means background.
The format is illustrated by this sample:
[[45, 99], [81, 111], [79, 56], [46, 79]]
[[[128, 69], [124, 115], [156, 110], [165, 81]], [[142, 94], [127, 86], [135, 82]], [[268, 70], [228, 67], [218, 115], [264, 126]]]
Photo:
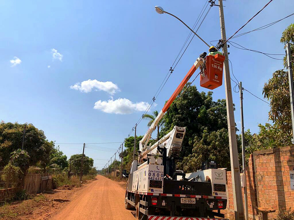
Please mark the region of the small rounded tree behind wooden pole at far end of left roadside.
[[[71, 155], [71, 171], [74, 172], [75, 175], [79, 175], [81, 171], [81, 161], [83, 154], [74, 154]], [[92, 169], [94, 164], [94, 160], [84, 155], [83, 158], [83, 174], [87, 175], [89, 171]]]

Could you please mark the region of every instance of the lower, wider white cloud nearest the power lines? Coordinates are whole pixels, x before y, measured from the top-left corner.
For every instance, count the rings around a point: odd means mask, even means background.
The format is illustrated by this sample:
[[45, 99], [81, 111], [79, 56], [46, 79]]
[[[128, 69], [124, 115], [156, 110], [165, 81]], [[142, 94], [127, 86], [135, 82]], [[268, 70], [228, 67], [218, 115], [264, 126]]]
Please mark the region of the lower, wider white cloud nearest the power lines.
[[[156, 104], [153, 104], [156, 106]], [[108, 101], [96, 101], [94, 109], [101, 110], [105, 113], [111, 114], [131, 114], [135, 111], [145, 111], [148, 107], [148, 102], [137, 102], [133, 103], [132, 101], [126, 98], [119, 98], [116, 100], [109, 99]]]

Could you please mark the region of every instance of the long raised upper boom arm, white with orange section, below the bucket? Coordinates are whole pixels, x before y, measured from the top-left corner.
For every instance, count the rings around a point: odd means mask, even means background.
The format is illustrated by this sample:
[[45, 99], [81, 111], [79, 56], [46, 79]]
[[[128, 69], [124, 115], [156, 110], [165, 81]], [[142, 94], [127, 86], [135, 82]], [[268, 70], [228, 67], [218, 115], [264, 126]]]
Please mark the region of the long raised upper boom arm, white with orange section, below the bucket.
[[190, 77], [193, 75], [193, 73], [198, 69], [198, 67], [201, 64], [203, 64], [203, 59], [198, 57], [197, 60], [195, 61], [195, 63], [193, 64], [193, 66], [191, 67], [191, 69], [188, 71], [188, 73], [186, 74], [186, 76], [182, 80], [182, 82], [178, 85], [178, 87], [175, 90], [175, 92], [173, 92], [173, 94], [171, 95], [171, 97], [168, 99], [168, 101], [166, 102], [166, 104], [163, 106], [163, 109], [161, 109], [161, 111], [159, 112], [158, 116], [153, 121], [153, 123], [149, 127], [148, 131], [146, 132], [146, 134], [144, 135], [144, 137], [142, 138], [142, 140], [139, 142], [139, 150], [141, 152], [143, 152], [143, 151], [145, 151], [145, 150], [148, 149], [147, 148], [147, 144], [148, 144], [148, 142], [149, 142], [149, 140], [151, 138], [152, 132], [155, 130], [156, 126], [158, 125], [158, 122], [162, 119], [162, 117], [166, 113], [166, 111], [169, 108], [169, 106], [171, 106], [171, 104], [176, 99], [176, 97], [178, 96], [178, 94], [181, 92], [181, 90], [183, 89], [183, 87], [186, 85], [186, 83], [188, 82], [188, 80], [190, 79]]

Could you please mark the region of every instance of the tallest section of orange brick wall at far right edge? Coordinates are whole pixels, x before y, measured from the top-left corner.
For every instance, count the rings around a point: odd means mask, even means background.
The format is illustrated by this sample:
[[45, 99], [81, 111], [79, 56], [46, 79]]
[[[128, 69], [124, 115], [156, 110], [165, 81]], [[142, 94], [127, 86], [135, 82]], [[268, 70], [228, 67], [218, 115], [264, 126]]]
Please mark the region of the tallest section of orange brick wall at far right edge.
[[[253, 152], [258, 204], [276, 209], [268, 219], [277, 217], [278, 209], [294, 207], [290, 188], [290, 170], [294, 170], [294, 146]], [[293, 209], [293, 208], [292, 208]]]

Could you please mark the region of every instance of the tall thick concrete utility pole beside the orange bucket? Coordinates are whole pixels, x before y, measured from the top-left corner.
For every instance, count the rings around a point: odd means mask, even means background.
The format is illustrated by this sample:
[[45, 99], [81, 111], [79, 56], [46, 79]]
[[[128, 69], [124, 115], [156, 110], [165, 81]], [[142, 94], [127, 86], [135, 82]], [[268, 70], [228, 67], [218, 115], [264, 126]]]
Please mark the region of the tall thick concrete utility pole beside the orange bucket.
[[[219, 3], [219, 13], [220, 13], [221, 38], [222, 40], [225, 41], [227, 38], [225, 34], [223, 0], [218, 0], [218, 3]], [[240, 180], [237, 138], [236, 138], [236, 130], [235, 130], [232, 87], [231, 87], [231, 81], [230, 81], [228, 48], [227, 48], [226, 42], [223, 44], [223, 55], [225, 56], [225, 61], [224, 61], [225, 96], [226, 96], [227, 118], [228, 118], [228, 132], [229, 132], [230, 159], [231, 159], [230, 162], [231, 162], [231, 171], [232, 171], [232, 188], [233, 188], [233, 198], [234, 198], [235, 220], [243, 220], [244, 208], [243, 208], [243, 198], [242, 198], [242, 189], [241, 189], [241, 180]]]

